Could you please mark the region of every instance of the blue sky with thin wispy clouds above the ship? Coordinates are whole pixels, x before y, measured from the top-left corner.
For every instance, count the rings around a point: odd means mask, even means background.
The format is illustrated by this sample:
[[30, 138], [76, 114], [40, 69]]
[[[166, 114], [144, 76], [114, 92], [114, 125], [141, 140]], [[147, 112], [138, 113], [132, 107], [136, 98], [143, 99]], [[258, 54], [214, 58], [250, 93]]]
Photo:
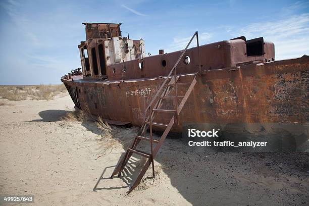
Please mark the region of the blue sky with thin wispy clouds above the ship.
[[309, 54], [309, 1], [18, 1], [0, 2], [0, 84], [60, 84], [81, 67], [82, 22], [123, 23], [146, 53], [245, 35], [275, 43], [276, 59]]

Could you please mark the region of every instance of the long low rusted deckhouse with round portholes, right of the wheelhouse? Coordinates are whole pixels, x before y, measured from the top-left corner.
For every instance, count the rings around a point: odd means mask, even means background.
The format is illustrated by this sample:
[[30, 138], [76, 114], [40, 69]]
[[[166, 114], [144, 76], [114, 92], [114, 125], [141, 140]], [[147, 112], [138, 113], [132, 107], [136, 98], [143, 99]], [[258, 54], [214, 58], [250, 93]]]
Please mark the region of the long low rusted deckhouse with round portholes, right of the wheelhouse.
[[[263, 53], [262, 56], [248, 57], [246, 55], [246, 42], [242, 39], [201, 45], [200, 56], [202, 70], [223, 69], [234, 67], [236, 64], [259, 60], [261, 62], [274, 60], [274, 44], [266, 42], [264, 44], [264, 49], [265, 54]], [[109, 65], [107, 75], [109, 80], [167, 76], [181, 52], [182, 51], [146, 57], [143, 59], [142, 69], [139, 68], [138, 64], [140, 60], [131, 60], [123, 64]], [[181, 61], [177, 66], [177, 73], [188, 74], [198, 72], [197, 47], [188, 49], [184, 57], [189, 57], [190, 63], [185, 64], [185, 60]], [[127, 68], [126, 72], [122, 71], [123, 66]]]

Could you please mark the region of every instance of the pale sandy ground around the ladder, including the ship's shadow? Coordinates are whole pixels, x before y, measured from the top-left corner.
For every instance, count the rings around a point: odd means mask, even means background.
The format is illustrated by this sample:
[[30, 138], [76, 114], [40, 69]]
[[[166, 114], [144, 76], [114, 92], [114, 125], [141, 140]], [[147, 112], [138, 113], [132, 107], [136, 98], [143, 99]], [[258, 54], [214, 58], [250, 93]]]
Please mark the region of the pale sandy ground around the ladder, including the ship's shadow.
[[177, 138], [168, 138], [156, 157], [156, 178], [150, 167], [127, 195], [138, 157], [122, 178], [109, 177], [136, 128], [118, 127], [117, 141], [100, 140], [93, 122], [61, 119], [74, 107], [69, 96], [6, 102], [0, 106], [0, 194], [34, 195], [27, 205], [309, 204], [307, 153], [215, 153]]

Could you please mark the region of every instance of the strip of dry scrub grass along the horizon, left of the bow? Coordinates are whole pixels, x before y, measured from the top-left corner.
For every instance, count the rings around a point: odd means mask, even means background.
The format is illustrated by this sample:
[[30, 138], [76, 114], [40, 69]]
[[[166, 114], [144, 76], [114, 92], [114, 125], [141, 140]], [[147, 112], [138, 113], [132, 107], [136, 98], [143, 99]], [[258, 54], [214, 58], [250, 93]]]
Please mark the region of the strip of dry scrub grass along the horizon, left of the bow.
[[56, 95], [66, 93], [64, 84], [60, 85], [32, 85], [32, 86], [0, 86], [1, 98], [12, 101], [20, 101], [26, 99], [53, 99]]

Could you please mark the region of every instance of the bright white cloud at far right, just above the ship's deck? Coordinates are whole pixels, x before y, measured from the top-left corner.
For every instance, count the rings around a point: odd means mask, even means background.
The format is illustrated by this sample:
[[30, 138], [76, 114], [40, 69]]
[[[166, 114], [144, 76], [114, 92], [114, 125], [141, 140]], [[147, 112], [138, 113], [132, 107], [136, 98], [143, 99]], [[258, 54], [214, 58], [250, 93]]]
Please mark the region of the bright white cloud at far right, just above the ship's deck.
[[274, 42], [277, 60], [301, 57], [309, 54], [309, 14], [252, 23], [234, 35], [244, 35], [247, 39], [263, 36], [265, 40]]

